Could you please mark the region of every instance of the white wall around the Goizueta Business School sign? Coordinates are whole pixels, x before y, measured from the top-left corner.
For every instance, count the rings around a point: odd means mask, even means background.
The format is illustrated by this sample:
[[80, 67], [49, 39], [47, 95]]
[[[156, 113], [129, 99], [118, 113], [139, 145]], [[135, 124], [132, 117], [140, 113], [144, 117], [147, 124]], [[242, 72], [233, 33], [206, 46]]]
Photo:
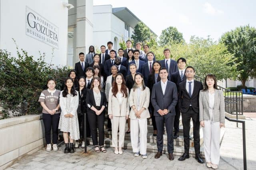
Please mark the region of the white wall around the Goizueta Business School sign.
[[59, 29], [58, 49], [54, 49], [52, 63], [67, 63], [68, 9], [65, 0], [0, 0], [0, 49], [7, 49], [16, 56], [16, 41], [19, 48], [37, 59], [39, 52], [46, 54], [46, 61], [52, 59], [52, 46], [26, 35], [26, 6], [54, 24]]

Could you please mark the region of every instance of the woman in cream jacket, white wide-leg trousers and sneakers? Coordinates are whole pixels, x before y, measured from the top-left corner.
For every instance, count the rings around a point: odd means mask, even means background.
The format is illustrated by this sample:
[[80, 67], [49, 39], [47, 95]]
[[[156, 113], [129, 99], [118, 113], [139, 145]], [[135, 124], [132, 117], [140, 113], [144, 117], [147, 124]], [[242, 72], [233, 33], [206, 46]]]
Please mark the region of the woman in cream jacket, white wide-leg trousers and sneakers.
[[129, 104], [131, 119], [131, 143], [134, 156], [142, 155], [147, 158], [147, 118], [150, 117], [148, 106], [150, 102], [150, 91], [145, 86], [143, 75], [136, 73], [135, 83], [130, 92]]

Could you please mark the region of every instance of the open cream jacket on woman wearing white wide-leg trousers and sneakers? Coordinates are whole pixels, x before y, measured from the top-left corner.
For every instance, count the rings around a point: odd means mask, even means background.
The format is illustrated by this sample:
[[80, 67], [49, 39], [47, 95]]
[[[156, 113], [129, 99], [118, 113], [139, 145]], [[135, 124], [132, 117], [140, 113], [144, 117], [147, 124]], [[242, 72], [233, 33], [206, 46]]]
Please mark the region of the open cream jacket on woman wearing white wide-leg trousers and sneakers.
[[[135, 89], [135, 91], [133, 91], [133, 88], [131, 89], [130, 92], [130, 97], [129, 97], [129, 103], [130, 103], [130, 107], [132, 107], [133, 105], [135, 106], [135, 108], [138, 105], [138, 93], [137, 93], [138, 89]], [[146, 119], [149, 118], [149, 111], [148, 111], [148, 106], [149, 106], [149, 102], [150, 102], [150, 91], [149, 88], [146, 87], [143, 91], [140, 92], [140, 103], [139, 106], [140, 108], [144, 107], [146, 108], [146, 110], [144, 110], [141, 115], [140, 115], [140, 119]], [[138, 109], [137, 109], [138, 110]], [[136, 119], [136, 115], [134, 113], [134, 110], [131, 109], [130, 111], [130, 119]]]

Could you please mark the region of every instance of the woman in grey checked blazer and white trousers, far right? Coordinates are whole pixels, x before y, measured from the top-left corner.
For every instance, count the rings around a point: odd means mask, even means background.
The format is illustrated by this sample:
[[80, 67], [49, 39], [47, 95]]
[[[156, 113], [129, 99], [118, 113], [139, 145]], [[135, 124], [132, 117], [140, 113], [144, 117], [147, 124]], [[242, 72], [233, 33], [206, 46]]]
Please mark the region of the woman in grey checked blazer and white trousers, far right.
[[199, 94], [199, 120], [204, 133], [206, 166], [217, 169], [220, 161], [220, 128], [225, 127], [225, 103], [213, 74], [206, 75]]

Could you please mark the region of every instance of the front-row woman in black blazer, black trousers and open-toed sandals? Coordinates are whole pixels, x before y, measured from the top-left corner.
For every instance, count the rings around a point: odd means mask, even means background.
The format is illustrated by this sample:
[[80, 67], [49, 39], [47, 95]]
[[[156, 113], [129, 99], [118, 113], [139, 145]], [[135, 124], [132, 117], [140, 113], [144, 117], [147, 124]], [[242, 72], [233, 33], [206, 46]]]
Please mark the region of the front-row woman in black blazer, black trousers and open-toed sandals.
[[[106, 152], [104, 148], [104, 109], [107, 105], [105, 93], [101, 90], [100, 78], [94, 77], [92, 79], [91, 89], [87, 91], [86, 106], [88, 121], [92, 134], [92, 143], [96, 152]], [[97, 125], [99, 130], [99, 141], [97, 133]]]

